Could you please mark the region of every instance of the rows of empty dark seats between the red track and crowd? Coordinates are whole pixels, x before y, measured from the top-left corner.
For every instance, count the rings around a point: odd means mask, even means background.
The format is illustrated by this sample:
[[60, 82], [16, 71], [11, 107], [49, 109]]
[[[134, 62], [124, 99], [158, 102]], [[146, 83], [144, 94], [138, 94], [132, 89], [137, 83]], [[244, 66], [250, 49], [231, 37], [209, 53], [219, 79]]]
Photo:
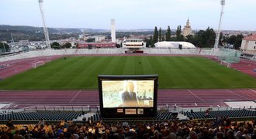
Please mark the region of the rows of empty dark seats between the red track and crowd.
[[[23, 112], [9, 112], [6, 114], [0, 114], [0, 120], [74, 120], [78, 117], [82, 117], [83, 114], [87, 114], [89, 111], [23, 111]], [[213, 110], [209, 112], [209, 115], [206, 117], [206, 111], [181, 111], [179, 114], [183, 114], [184, 117], [181, 120], [192, 119], [205, 119], [205, 118], [215, 118], [215, 117], [230, 117], [230, 118], [244, 118], [244, 117], [256, 117], [255, 110]], [[106, 120], [111, 121], [159, 121], [159, 120], [177, 120], [179, 119], [178, 111], [175, 114], [175, 111], [162, 111], [158, 112], [156, 117], [153, 118], [110, 118]], [[83, 116], [85, 117], [85, 116]], [[91, 116], [92, 120], [101, 120], [100, 114], [95, 112]]]

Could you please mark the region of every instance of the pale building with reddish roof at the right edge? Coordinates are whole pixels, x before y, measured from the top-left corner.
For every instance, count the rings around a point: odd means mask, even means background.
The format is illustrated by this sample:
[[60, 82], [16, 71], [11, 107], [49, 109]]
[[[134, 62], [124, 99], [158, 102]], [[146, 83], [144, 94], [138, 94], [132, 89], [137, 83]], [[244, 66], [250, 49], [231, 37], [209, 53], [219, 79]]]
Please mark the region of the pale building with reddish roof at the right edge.
[[240, 50], [244, 53], [256, 54], [256, 34], [242, 40]]

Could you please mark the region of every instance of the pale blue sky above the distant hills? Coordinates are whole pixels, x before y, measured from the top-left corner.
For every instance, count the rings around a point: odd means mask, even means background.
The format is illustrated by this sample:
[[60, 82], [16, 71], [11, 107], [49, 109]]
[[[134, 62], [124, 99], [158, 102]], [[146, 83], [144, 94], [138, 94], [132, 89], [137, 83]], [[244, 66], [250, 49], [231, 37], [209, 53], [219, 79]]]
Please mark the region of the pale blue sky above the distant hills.
[[[43, 26], [38, 0], [0, 0], [0, 25]], [[226, 0], [221, 29], [256, 30], [256, 0]], [[192, 29], [217, 29], [220, 0], [43, 0], [47, 27], [177, 29], [189, 18]]]

